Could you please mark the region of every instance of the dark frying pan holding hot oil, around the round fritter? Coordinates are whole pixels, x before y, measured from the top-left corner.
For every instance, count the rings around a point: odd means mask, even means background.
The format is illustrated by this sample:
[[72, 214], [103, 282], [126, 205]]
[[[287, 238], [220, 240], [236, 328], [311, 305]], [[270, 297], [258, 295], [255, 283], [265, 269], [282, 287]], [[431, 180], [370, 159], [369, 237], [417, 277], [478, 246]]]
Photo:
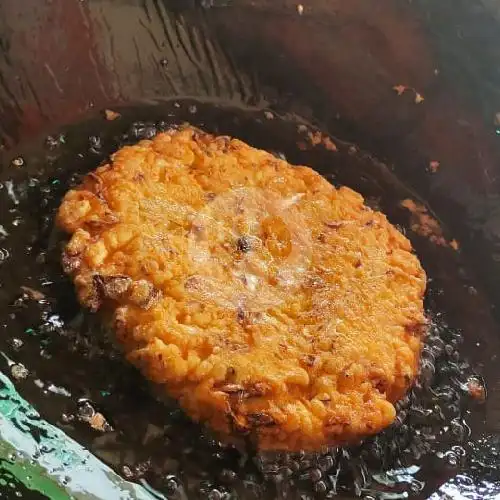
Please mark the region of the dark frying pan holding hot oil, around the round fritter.
[[[498, 498], [499, 27], [497, 0], [3, 0], [0, 497]], [[431, 328], [381, 435], [316, 455], [224, 447], [79, 309], [61, 196], [182, 122], [311, 165], [412, 240]]]

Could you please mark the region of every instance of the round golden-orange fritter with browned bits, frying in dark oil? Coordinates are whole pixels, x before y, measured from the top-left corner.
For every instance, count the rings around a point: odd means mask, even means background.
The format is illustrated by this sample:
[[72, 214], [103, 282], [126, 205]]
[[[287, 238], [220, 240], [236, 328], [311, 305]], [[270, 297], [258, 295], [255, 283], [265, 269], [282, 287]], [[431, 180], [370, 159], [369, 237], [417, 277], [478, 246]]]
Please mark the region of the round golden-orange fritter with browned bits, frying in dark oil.
[[118, 151], [58, 223], [80, 302], [220, 436], [315, 450], [393, 421], [418, 369], [425, 273], [354, 191], [184, 128]]

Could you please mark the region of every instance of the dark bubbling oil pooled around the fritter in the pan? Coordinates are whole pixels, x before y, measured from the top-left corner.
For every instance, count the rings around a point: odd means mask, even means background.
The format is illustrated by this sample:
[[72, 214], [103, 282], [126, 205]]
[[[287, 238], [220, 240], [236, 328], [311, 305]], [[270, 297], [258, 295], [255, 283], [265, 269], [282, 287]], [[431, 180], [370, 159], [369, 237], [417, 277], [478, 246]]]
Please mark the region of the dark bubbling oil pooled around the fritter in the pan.
[[[1, 241], [0, 350], [28, 368], [17, 387], [43, 418], [125, 478], [174, 498], [427, 498], [456, 476], [465, 486], [500, 479], [491, 461], [494, 443], [480, 436], [484, 405], [468, 394], [471, 377], [488, 380], [494, 373], [494, 360], [482, 354], [495, 332], [490, 306], [460, 252], [411, 231], [400, 202], [418, 198], [390, 169], [335, 138], [337, 152], [307, 146], [300, 125], [315, 128], [295, 115], [194, 100], [116, 110], [121, 116], [114, 121], [95, 113], [16, 148], [11, 160], [22, 159], [22, 165], [14, 161], [2, 175], [0, 210], [8, 235]], [[62, 240], [53, 217], [61, 197], [121, 145], [186, 121], [310, 165], [335, 185], [358, 190], [412, 240], [429, 275], [432, 327], [417, 386], [387, 431], [360, 446], [318, 455], [259, 456], [224, 448], [175, 404], [157, 402], [120, 360], [98, 320], [79, 308], [59, 264]], [[453, 238], [446, 230], [445, 236]], [[108, 423], [104, 432], [85, 422], [94, 411]]]

